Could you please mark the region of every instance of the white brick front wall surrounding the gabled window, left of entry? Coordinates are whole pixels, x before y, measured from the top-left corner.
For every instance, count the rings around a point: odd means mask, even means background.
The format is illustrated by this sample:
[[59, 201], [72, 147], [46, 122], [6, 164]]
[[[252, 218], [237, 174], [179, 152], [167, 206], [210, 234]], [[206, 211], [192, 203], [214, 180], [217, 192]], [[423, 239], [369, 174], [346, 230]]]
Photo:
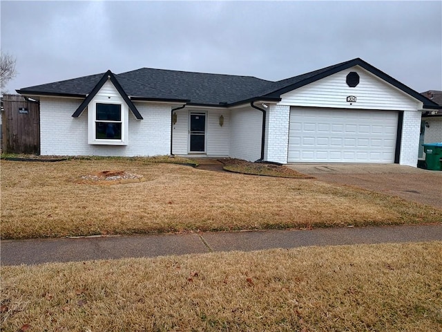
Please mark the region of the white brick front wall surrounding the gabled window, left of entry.
[[137, 103], [144, 120], [129, 112], [128, 145], [89, 145], [87, 109], [73, 118], [81, 100], [41, 98], [41, 155], [58, 156], [155, 156], [170, 154], [171, 107]]

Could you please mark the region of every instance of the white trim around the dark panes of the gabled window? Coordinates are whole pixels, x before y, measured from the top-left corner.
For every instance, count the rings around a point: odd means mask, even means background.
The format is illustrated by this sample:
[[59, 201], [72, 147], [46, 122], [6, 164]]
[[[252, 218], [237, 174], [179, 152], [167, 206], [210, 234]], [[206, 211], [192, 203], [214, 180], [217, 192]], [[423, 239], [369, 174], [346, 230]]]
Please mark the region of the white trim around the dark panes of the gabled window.
[[[121, 121], [97, 120], [97, 104], [115, 104], [120, 105]], [[115, 122], [122, 124], [121, 139], [97, 138], [97, 122]], [[128, 145], [128, 106], [119, 100], [93, 100], [88, 105], [88, 143], [90, 145]]]

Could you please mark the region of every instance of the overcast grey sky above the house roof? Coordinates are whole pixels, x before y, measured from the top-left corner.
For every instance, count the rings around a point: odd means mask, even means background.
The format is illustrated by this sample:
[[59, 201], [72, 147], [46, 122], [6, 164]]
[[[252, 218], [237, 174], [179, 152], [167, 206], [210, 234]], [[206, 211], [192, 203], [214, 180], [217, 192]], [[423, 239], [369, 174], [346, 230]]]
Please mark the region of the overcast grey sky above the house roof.
[[265, 80], [361, 57], [442, 90], [442, 1], [1, 1], [6, 89], [137, 68]]

